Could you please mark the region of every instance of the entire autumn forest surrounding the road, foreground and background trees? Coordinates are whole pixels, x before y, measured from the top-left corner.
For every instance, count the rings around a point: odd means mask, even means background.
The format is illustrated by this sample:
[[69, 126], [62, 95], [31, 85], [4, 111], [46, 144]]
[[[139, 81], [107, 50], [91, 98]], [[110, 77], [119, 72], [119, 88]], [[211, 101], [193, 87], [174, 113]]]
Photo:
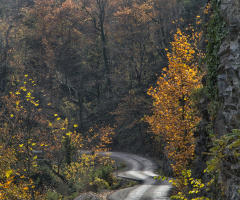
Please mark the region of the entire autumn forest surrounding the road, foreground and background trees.
[[215, 133], [220, 4], [1, 0], [0, 199], [119, 189], [110, 150], [166, 162], [184, 200], [228, 199], [230, 159], [240, 196], [240, 127]]

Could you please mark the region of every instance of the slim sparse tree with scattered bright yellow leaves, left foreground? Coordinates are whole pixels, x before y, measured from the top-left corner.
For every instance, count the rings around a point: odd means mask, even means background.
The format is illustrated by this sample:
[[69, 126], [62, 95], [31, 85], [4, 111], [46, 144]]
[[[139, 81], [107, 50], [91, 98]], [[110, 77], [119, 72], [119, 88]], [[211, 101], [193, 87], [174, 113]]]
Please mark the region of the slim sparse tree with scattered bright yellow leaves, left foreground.
[[20, 78], [12, 77], [10, 83], [10, 92], [2, 96], [1, 153], [6, 150], [12, 152], [15, 158], [11, 161], [13, 169], [23, 177], [24, 188], [27, 188], [29, 198], [34, 200], [38, 196], [32, 179], [38, 171], [34, 151], [41, 150], [46, 159], [53, 160], [53, 155], [61, 148], [62, 135], [50, 131], [51, 123], [40, 108], [39, 93], [34, 90], [35, 81], [26, 74]]

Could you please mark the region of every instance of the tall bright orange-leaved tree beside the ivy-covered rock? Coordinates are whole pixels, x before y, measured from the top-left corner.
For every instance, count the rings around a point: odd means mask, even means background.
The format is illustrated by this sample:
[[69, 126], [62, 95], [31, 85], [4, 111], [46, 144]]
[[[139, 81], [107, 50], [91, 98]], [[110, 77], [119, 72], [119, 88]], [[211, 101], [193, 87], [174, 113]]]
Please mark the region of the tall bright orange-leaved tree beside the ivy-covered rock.
[[187, 168], [194, 158], [193, 129], [199, 121], [191, 105], [191, 92], [201, 87], [202, 73], [199, 70], [199, 56], [196, 41], [201, 33], [193, 37], [179, 29], [171, 43], [172, 52], [167, 53], [169, 67], [163, 69], [157, 86], [150, 88], [153, 97], [153, 115], [146, 117], [151, 130], [166, 143], [166, 153], [171, 159], [175, 174]]

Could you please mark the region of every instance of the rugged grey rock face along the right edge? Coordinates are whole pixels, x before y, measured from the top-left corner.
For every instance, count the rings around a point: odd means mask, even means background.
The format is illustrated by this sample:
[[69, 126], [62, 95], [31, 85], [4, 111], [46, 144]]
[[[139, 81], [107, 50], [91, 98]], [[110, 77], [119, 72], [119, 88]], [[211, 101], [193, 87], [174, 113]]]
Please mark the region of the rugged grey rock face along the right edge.
[[[229, 33], [218, 53], [218, 90], [223, 105], [215, 123], [214, 132], [217, 136], [231, 133], [232, 129], [240, 129], [240, 0], [222, 0], [220, 9]], [[228, 164], [229, 170], [221, 175], [227, 191], [225, 198], [237, 200], [240, 199], [240, 175], [231, 173], [233, 166], [231, 162]], [[234, 169], [239, 171], [240, 165]]]

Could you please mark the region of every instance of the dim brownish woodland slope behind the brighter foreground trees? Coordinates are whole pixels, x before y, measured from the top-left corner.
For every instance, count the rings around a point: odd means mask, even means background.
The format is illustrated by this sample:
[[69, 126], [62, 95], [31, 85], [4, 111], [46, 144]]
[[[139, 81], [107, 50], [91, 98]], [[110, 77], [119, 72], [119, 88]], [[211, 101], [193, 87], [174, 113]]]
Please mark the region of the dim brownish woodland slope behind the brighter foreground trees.
[[176, 28], [193, 23], [204, 3], [2, 1], [1, 91], [10, 75], [29, 74], [40, 106], [49, 100], [81, 133], [117, 125], [115, 148], [149, 151], [147, 89], [167, 66]]

